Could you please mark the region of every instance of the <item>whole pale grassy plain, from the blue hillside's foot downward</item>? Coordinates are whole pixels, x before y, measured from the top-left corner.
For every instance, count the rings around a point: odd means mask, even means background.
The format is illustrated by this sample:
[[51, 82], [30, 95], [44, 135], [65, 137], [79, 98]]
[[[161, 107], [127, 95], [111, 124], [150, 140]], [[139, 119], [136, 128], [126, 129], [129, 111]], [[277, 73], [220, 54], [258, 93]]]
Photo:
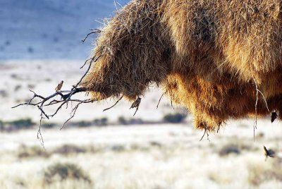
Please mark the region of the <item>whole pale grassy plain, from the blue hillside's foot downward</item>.
[[[71, 123], [59, 130], [70, 116], [70, 109], [62, 109], [44, 123], [42, 147], [38, 109], [11, 106], [27, 102], [29, 90], [53, 93], [61, 80], [63, 89], [70, 88], [84, 73], [82, 64], [0, 62], [1, 188], [282, 188], [281, 122], [259, 119], [254, 141], [254, 118], [230, 120], [200, 141], [204, 130], [193, 128], [188, 111], [172, 107], [166, 98], [156, 108], [162, 92], [154, 86], [134, 117], [125, 99], [103, 112], [115, 102], [106, 100], [80, 106]], [[164, 121], [176, 113], [187, 117], [180, 123]], [[98, 123], [103, 118], [106, 122]], [[25, 119], [35, 124], [12, 124]], [[265, 159], [264, 145], [276, 157]]]

